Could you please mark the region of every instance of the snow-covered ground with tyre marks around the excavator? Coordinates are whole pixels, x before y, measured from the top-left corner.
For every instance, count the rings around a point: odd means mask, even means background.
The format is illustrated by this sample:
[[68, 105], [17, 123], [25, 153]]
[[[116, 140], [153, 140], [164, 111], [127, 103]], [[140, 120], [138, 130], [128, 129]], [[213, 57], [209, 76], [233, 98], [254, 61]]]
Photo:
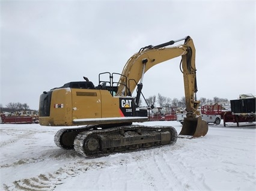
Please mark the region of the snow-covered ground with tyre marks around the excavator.
[[[143, 125], [181, 130], [178, 122]], [[209, 125], [205, 137], [172, 146], [87, 158], [56, 147], [59, 128], [2, 124], [0, 190], [256, 190], [255, 123], [241, 125]]]

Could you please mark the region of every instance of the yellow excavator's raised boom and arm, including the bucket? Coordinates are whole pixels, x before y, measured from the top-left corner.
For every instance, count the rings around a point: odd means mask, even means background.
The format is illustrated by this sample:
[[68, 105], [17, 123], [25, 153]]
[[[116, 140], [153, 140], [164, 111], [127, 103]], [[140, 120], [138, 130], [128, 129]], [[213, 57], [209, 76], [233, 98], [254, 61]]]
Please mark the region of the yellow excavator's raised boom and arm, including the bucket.
[[[177, 47], [166, 47], [181, 40], [184, 40], [184, 44]], [[197, 117], [199, 116], [198, 107], [200, 101], [196, 100], [198, 89], [196, 76], [197, 69], [195, 67], [195, 46], [192, 38], [189, 36], [181, 38], [180, 40], [159, 44], [158, 46], [141, 48], [138, 53], [130, 57], [124, 66], [117, 95], [131, 95], [138, 85], [138, 87], [140, 87], [139, 92], [141, 92], [143, 75], [148, 69], [178, 56], [181, 56], [187, 111], [187, 118], [184, 119], [180, 137], [201, 137], [207, 134], [208, 125], [201, 120], [200, 117]], [[141, 83], [138, 84], [139, 80], [141, 80]], [[129, 82], [130, 89], [126, 88], [126, 81]], [[138, 95], [136, 99], [139, 99]]]

